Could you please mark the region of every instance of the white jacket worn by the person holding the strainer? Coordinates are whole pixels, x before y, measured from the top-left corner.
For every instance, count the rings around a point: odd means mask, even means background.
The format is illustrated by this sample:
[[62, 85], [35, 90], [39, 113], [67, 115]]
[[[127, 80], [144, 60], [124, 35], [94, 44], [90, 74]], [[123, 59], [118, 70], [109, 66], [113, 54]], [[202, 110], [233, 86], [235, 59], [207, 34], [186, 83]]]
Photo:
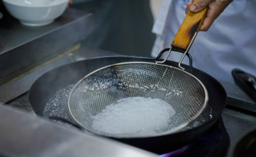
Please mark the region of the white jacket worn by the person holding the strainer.
[[[156, 40], [151, 55], [170, 47], [182, 24], [189, 0], [163, 0], [152, 32]], [[256, 75], [256, 0], [234, 0], [206, 32], [199, 32], [189, 53], [193, 66], [217, 80], [233, 82], [231, 71], [240, 68]], [[179, 61], [172, 52], [168, 60]], [[185, 58], [182, 63], [188, 63]]]

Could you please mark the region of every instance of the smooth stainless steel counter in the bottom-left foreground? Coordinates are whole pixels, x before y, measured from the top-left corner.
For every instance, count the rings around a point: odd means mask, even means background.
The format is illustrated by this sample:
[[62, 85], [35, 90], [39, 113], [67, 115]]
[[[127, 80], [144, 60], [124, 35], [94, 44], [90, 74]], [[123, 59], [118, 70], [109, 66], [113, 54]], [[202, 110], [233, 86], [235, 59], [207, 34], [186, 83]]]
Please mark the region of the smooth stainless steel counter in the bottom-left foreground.
[[154, 157], [147, 151], [0, 106], [0, 156]]

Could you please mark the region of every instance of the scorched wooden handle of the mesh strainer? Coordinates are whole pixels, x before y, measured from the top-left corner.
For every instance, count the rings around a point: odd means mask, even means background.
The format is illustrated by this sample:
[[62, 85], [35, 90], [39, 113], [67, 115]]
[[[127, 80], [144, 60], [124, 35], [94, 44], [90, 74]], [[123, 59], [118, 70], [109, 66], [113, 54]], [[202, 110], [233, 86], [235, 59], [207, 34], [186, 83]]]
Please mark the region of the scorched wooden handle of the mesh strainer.
[[[194, 3], [196, 1], [198, 0], [194, 0]], [[189, 10], [171, 43], [173, 50], [185, 52], [188, 49], [194, 34], [200, 30], [203, 24], [207, 9], [208, 7], [197, 13], [193, 13]]]

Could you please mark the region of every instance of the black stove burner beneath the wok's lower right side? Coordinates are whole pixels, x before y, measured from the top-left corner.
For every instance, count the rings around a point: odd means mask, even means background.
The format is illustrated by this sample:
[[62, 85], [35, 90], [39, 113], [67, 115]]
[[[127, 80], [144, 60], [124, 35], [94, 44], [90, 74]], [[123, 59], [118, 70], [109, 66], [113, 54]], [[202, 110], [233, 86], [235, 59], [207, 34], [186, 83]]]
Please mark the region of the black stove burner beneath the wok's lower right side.
[[222, 118], [203, 136], [180, 149], [161, 155], [161, 157], [225, 157], [230, 145], [229, 135]]

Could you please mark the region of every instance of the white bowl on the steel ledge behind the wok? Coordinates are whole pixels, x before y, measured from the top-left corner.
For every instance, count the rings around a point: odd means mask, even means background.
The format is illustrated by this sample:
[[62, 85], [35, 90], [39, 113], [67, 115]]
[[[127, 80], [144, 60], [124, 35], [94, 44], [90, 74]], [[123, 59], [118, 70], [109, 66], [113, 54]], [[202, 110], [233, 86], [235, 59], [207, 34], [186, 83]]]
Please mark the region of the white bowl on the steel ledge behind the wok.
[[8, 12], [22, 24], [50, 24], [67, 8], [69, 0], [2, 0]]

